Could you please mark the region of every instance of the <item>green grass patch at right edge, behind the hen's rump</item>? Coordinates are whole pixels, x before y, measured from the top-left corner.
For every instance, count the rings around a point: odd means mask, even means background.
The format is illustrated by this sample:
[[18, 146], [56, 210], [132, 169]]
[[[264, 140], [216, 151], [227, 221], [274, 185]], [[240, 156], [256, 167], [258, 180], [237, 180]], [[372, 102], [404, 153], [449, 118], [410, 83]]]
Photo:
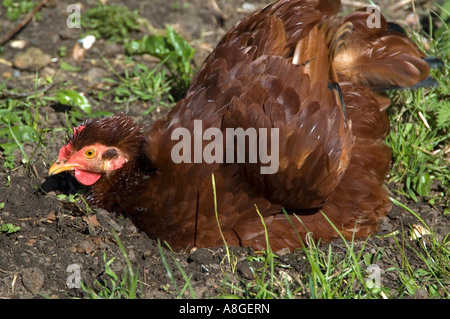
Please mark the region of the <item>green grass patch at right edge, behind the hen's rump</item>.
[[[427, 52], [444, 66], [432, 70], [439, 86], [391, 92], [389, 109], [392, 148], [390, 182], [400, 194], [418, 201], [421, 197], [448, 207], [450, 197], [450, 30], [444, 25]], [[420, 43], [419, 35], [415, 34]], [[432, 188], [439, 191], [431, 193]], [[434, 187], [433, 187], [434, 186]], [[448, 209], [446, 213], [448, 213]]]

